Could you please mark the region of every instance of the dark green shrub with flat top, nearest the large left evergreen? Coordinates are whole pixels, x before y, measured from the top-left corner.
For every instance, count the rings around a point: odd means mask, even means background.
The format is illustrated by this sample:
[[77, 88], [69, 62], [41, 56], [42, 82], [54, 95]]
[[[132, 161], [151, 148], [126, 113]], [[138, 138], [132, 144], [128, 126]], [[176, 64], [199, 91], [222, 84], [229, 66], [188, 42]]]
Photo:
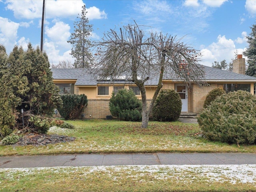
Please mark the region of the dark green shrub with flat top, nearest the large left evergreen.
[[63, 104], [57, 110], [66, 120], [78, 119], [82, 109], [88, 104], [87, 96], [84, 94], [62, 94], [60, 97]]

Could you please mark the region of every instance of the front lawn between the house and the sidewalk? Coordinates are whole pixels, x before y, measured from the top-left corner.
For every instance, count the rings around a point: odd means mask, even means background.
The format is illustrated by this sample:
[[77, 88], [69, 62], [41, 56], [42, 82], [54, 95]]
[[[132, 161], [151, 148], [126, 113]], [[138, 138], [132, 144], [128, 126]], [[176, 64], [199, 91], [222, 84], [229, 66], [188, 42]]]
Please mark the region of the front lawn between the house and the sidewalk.
[[47, 146], [0, 146], [0, 156], [85, 154], [85, 153], [154, 153], [154, 152], [249, 152], [256, 146], [211, 142], [198, 138], [198, 124], [150, 122], [142, 129], [140, 122], [118, 120], [67, 121], [75, 129], [52, 127], [48, 134], [76, 137], [74, 142]]

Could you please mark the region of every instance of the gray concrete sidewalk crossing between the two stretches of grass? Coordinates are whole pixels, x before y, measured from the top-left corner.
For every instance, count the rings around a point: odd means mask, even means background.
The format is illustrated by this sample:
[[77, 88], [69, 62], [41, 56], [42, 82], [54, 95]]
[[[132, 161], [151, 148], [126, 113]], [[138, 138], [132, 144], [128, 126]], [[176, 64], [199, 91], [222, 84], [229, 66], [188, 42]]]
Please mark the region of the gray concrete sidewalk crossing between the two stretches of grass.
[[57, 156], [0, 157], [0, 168], [117, 165], [256, 164], [256, 154], [246, 153], [154, 153], [71, 154]]

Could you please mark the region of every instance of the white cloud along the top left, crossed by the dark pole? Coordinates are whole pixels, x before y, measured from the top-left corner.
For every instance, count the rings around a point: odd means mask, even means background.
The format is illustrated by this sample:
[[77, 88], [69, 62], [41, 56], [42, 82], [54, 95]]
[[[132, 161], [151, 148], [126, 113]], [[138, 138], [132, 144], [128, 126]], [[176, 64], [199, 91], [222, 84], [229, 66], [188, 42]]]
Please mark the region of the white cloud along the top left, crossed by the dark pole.
[[[46, 18], [76, 18], [81, 14], [84, 2], [82, 0], [50, 0], [45, 1]], [[6, 1], [6, 8], [14, 12], [16, 18], [35, 19], [42, 18], [42, 1]], [[86, 8], [88, 19], [106, 18], [106, 13], [96, 7]]]

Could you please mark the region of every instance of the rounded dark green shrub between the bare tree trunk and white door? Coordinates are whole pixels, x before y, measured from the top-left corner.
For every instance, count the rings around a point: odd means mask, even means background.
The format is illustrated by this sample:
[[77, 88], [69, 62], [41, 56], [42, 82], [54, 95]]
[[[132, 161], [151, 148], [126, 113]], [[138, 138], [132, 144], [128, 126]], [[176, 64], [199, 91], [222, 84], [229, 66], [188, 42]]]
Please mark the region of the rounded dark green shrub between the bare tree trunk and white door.
[[157, 121], [177, 121], [180, 117], [182, 102], [175, 90], [163, 89], [156, 98], [152, 116]]

